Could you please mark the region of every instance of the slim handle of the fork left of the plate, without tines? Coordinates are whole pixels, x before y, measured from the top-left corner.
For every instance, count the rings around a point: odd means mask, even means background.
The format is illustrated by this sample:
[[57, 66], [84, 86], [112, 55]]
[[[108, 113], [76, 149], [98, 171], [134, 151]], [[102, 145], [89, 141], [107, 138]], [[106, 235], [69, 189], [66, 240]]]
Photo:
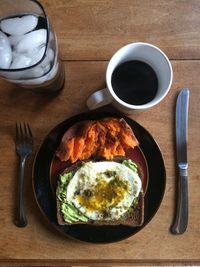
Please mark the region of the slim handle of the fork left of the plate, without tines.
[[20, 158], [20, 172], [19, 172], [19, 188], [18, 188], [18, 200], [17, 200], [17, 212], [15, 224], [18, 227], [25, 227], [27, 225], [27, 218], [24, 210], [24, 167], [25, 157]]

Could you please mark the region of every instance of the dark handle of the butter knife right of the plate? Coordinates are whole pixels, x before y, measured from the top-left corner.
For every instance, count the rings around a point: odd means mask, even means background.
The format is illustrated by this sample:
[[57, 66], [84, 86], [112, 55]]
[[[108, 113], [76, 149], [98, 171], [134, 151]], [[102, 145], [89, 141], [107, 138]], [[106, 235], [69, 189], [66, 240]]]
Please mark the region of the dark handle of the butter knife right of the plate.
[[177, 207], [174, 223], [171, 227], [173, 234], [183, 234], [188, 225], [188, 175], [187, 170], [180, 170], [178, 177]]

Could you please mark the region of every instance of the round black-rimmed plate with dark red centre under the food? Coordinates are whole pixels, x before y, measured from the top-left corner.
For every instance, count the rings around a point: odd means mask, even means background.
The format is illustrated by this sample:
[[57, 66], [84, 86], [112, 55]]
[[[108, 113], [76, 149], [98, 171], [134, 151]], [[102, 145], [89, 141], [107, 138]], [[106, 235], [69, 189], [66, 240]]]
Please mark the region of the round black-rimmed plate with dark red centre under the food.
[[110, 243], [126, 239], [147, 225], [156, 214], [165, 191], [166, 173], [164, 160], [159, 146], [150, 133], [136, 121], [123, 116], [131, 126], [139, 147], [128, 152], [142, 170], [142, 187], [144, 192], [144, 223], [142, 226], [126, 225], [96, 226], [87, 224], [59, 225], [56, 216], [55, 187], [58, 174], [65, 168], [55, 157], [55, 151], [63, 134], [76, 122], [98, 120], [106, 117], [121, 118], [110, 112], [88, 112], [71, 117], [58, 124], [44, 139], [35, 157], [33, 166], [33, 190], [36, 201], [48, 222], [62, 234], [80, 241], [92, 243]]

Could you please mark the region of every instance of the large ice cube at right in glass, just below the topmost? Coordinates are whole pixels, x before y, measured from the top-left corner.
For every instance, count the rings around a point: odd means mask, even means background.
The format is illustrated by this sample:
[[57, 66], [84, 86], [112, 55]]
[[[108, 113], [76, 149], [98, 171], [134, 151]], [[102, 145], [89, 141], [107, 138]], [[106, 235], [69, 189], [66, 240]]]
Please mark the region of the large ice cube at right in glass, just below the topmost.
[[18, 53], [32, 53], [34, 49], [45, 46], [47, 41], [47, 31], [40, 29], [24, 35], [23, 39], [16, 45]]

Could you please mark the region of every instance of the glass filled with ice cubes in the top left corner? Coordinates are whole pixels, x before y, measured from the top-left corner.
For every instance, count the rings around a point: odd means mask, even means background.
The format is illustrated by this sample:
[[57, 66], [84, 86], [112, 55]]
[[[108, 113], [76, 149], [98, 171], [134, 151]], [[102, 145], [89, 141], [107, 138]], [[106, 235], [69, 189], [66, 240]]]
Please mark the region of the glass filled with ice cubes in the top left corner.
[[38, 92], [64, 86], [55, 32], [35, 0], [0, 1], [0, 77]]

